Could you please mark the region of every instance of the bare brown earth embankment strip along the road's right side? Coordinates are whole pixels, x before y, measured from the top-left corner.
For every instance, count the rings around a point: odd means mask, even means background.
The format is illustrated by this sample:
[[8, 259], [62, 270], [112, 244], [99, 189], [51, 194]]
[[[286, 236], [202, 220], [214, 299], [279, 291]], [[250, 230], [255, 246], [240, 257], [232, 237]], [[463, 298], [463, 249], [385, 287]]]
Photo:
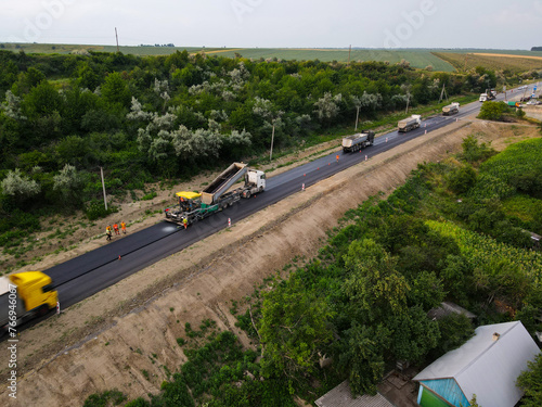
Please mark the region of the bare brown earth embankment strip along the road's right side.
[[[231, 300], [250, 295], [295, 256], [311, 258], [326, 230], [371, 195], [402, 185], [418, 163], [459, 151], [466, 136], [503, 149], [540, 137], [534, 127], [463, 122], [430, 132], [321, 181], [180, 253], [137, 272], [21, 334], [14, 406], [78, 406], [89, 394], [118, 389], [130, 399], [158, 393], [164, 366], [185, 361], [177, 338], [184, 323], [210, 318], [253, 346], [235, 326]], [[156, 354], [153, 364], [151, 357]], [[8, 360], [4, 342], [0, 360]], [[2, 363], [7, 383], [7, 361]], [[149, 372], [145, 379], [143, 370]], [[2, 385], [0, 399], [8, 398]], [[3, 403], [3, 402], [2, 402]]]

